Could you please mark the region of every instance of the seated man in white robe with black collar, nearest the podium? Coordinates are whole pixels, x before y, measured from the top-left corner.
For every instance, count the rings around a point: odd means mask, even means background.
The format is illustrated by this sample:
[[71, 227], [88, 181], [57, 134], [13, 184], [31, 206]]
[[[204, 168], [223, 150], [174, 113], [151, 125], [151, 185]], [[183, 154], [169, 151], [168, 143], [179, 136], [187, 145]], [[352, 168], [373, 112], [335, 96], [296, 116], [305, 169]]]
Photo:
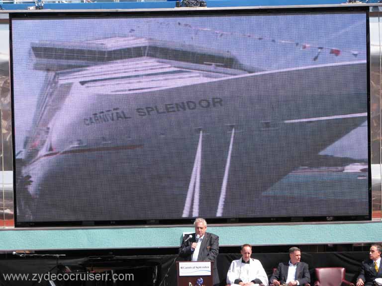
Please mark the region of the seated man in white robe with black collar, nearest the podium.
[[268, 277], [261, 262], [251, 258], [252, 246], [244, 244], [241, 247], [241, 258], [234, 260], [227, 273], [228, 284], [250, 286], [255, 284], [268, 285]]

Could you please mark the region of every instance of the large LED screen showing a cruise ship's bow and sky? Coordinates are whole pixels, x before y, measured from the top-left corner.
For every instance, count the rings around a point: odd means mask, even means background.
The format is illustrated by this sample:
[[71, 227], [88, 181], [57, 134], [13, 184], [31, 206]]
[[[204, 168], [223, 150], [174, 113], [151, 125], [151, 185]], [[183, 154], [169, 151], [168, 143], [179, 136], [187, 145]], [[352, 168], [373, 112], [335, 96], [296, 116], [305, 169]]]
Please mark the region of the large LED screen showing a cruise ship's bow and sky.
[[366, 22], [13, 18], [17, 222], [368, 218]]

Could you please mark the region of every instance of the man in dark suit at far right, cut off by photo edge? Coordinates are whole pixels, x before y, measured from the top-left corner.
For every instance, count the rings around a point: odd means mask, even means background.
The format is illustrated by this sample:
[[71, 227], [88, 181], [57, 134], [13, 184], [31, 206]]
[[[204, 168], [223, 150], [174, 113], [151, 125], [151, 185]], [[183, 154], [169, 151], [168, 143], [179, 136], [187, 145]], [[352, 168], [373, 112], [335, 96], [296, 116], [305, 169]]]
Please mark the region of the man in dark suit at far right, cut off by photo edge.
[[379, 244], [373, 244], [370, 247], [370, 259], [362, 262], [356, 286], [374, 286], [376, 278], [382, 278], [381, 250], [382, 248]]

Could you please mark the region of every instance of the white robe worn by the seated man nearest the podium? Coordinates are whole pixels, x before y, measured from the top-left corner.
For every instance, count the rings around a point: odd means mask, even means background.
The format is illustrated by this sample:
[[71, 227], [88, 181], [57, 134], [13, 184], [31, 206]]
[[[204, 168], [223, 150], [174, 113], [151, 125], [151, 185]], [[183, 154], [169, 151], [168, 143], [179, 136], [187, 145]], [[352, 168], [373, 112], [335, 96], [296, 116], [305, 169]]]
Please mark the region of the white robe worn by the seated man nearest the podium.
[[265, 286], [268, 286], [268, 276], [263, 265], [253, 258], [249, 260], [249, 264], [242, 263], [241, 258], [232, 261], [227, 273], [227, 284], [234, 284], [236, 279], [241, 279], [244, 283], [260, 279]]

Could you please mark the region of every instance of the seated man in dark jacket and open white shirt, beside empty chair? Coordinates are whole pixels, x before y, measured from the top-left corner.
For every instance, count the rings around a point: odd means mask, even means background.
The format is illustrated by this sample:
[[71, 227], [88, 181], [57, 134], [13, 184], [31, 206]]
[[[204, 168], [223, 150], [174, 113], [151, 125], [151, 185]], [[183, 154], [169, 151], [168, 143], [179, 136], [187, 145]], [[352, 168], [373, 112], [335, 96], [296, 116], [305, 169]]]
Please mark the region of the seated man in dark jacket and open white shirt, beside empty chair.
[[271, 276], [273, 285], [287, 284], [288, 286], [304, 285], [310, 283], [309, 267], [300, 262], [301, 251], [297, 247], [289, 248], [289, 262], [279, 263], [277, 270]]

